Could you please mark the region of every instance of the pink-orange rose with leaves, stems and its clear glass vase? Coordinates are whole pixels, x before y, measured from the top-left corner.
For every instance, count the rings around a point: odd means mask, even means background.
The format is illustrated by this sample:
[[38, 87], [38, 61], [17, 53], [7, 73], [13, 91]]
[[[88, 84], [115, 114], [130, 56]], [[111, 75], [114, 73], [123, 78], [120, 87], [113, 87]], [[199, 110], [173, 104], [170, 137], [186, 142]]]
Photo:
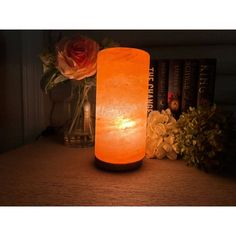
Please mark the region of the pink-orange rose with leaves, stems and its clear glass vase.
[[75, 35], [58, 40], [40, 55], [43, 63], [41, 88], [45, 93], [61, 83], [71, 82], [72, 101], [69, 110], [72, 114], [65, 125], [65, 144], [93, 145], [94, 117], [91, 117], [89, 92], [96, 86], [97, 54], [103, 48], [117, 45], [110, 39], [104, 39], [99, 44], [88, 37]]

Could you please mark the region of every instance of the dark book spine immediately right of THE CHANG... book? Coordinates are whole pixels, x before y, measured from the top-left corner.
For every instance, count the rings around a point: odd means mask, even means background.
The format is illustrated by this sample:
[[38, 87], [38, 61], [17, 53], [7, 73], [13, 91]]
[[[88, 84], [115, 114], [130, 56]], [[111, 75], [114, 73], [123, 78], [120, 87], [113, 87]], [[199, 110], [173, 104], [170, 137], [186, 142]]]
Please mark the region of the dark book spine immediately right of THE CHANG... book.
[[168, 107], [168, 76], [169, 60], [157, 62], [157, 110], [162, 111]]

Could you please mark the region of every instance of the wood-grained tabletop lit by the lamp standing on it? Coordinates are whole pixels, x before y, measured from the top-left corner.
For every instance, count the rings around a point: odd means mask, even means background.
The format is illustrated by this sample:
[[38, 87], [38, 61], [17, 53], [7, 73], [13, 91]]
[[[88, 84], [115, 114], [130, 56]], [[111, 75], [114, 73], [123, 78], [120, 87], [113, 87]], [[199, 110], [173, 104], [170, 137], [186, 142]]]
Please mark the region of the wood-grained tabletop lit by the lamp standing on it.
[[235, 206], [236, 179], [181, 160], [144, 159], [140, 169], [97, 169], [93, 148], [49, 138], [0, 155], [2, 206]]

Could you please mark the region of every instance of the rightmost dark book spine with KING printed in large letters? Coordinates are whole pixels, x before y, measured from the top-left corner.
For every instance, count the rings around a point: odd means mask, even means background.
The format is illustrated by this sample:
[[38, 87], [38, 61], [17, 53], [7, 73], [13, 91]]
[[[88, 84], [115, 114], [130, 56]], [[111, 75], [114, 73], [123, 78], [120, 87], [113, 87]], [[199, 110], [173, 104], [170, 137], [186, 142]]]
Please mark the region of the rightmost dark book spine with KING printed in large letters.
[[199, 60], [197, 107], [211, 106], [214, 102], [216, 59]]

